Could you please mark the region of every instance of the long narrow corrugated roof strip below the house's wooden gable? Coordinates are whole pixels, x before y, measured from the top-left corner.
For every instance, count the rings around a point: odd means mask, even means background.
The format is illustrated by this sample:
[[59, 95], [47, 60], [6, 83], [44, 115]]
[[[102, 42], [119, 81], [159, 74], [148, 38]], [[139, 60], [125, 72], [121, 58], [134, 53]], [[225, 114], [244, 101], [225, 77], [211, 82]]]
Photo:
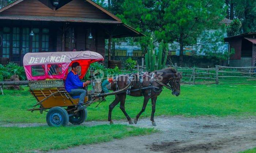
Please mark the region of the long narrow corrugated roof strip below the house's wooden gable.
[[84, 18], [84, 17], [56, 17], [56, 16], [31, 16], [31, 15], [0, 15], [0, 19], [28, 20], [28, 21], [57, 21], [57, 22], [81, 22], [81, 23], [122, 23], [113, 19]]

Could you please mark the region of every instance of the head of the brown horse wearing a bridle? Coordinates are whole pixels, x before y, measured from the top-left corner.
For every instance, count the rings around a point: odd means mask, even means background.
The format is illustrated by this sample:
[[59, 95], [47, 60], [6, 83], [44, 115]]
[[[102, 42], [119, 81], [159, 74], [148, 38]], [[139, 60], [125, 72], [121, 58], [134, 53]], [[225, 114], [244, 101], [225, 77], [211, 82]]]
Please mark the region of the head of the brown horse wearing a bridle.
[[181, 84], [181, 73], [179, 72], [174, 72], [173, 77], [169, 81], [169, 85], [172, 88], [172, 94], [173, 95], [180, 95], [180, 84]]

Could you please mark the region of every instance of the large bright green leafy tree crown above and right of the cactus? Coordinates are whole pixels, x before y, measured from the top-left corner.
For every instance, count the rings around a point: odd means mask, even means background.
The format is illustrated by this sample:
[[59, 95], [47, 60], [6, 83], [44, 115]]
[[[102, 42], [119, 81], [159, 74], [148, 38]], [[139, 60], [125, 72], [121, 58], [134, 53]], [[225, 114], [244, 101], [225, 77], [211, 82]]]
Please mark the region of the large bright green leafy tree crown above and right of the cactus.
[[180, 43], [183, 50], [184, 46], [196, 44], [203, 31], [219, 28], [219, 21], [223, 19], [222, 6], [222, 0], [170, 1], [164, 15], [163, 29], [157, 31], [156, 35], [167, 42]]

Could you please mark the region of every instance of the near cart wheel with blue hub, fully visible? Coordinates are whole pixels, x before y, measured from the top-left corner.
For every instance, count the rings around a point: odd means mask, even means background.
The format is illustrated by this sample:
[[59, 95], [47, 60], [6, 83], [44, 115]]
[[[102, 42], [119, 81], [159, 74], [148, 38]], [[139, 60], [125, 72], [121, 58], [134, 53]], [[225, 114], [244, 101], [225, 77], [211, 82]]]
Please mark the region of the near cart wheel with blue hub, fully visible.
[[49, 126], [66, 126], [68, 125], [68, 120], [68, 112], [62, 107], [52, 107], [46, 115], [46, 121]]

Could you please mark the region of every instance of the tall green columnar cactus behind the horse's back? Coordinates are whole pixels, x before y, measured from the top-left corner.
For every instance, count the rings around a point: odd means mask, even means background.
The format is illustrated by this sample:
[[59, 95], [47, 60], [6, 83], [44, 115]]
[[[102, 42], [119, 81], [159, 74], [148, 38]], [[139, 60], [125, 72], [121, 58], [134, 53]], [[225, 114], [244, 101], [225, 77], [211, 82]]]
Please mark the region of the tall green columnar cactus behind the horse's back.
[[[163, 52], [165, 54], [163, 58]], [[145, 54], [145, 62], [148, 71], [161, 70], [165, 67], [168, 55], [168, 45], [163, 43], [159, 44], [158, 51], [156, 52], [153, 47], [153, 39], [150, 39], [148, 45], [148, 52]], [[162, 62], [163, 61], [163, 62]]]

